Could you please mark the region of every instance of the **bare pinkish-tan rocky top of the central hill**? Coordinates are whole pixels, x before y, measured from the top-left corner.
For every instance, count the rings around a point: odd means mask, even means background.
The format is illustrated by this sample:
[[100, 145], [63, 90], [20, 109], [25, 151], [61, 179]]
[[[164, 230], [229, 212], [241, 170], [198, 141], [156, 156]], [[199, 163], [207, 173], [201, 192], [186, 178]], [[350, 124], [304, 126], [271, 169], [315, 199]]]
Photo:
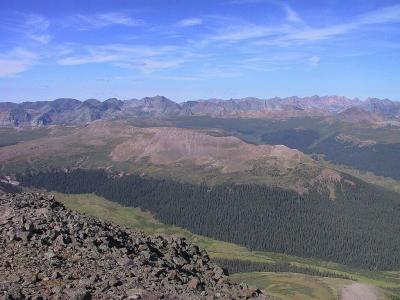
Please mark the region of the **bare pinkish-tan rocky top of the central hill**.
[[256, 161], [278, 174], [298, 164], [310, 163], [299, 151], [285, 146], [255, 146], [235, 137], [216, 137], [180, 128], [135, 129], [135, 136], [118, 144], [111, 152], [115, 161], [148, 158], [157, 165], [189, 162], [196, 166], [221, 169], [224, 173], [253, 170]]

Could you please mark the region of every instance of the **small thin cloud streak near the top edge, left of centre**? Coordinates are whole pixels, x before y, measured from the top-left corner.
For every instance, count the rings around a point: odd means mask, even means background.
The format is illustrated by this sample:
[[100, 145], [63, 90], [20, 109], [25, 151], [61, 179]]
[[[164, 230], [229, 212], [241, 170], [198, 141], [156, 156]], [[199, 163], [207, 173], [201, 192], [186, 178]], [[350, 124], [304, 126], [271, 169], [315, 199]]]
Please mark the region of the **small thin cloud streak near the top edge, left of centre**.
[[109, 12], [95, 15], [75, 15], [70, 17], [70, 24], [74, 24], [79, 30], [99, 29], [114, 25], [138, 26], [143, 22], [123, 13]]

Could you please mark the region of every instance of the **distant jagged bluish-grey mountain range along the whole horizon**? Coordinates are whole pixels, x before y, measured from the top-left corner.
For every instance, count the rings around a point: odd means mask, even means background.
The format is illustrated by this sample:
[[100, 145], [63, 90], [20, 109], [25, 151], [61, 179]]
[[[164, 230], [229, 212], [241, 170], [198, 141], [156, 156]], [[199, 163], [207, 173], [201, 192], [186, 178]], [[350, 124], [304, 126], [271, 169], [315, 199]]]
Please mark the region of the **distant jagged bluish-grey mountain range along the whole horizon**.
[[[346, 110], [355, 114], [346, 118]], [[370, 114], [366, 116], [367, 114]], [[362, 114], [362, 117], [357, 117]], [[340, 96], [288, 98], [209, 99], [175, 103], [163, 97], [105, 101], [61, 98], [54, 101], [0, 103], [0, 126], [24, 127], [50, 124], [82, 124], [99, 119], [132, 117], [211, 116], [244, 118], [288, 118], [304, 116], [338, 116], [339, 120], [362, 122], [398, 121], [400, 103], [388, 99], [368, 98], [364, 101]]]

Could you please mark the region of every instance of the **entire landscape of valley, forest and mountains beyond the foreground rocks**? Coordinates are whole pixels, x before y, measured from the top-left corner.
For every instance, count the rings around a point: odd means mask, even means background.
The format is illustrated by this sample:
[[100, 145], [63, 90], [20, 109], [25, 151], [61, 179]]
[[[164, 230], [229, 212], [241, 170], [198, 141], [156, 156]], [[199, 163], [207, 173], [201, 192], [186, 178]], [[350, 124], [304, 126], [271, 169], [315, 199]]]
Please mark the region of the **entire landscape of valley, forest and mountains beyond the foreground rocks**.
[[388, 99], [0, 102], [3, 193], [183, 236], [271, 299], [399, 299], [399, 154]]

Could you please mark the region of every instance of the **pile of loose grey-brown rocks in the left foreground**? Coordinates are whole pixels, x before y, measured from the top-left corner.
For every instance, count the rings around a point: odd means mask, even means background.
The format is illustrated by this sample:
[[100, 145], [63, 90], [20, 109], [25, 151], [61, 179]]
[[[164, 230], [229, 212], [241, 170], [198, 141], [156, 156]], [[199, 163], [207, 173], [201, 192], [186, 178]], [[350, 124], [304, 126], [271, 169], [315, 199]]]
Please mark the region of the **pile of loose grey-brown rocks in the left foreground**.
[[183, 238], [146, 236], [52, 196], [0, 195], [0, 299], [266, 299]]

